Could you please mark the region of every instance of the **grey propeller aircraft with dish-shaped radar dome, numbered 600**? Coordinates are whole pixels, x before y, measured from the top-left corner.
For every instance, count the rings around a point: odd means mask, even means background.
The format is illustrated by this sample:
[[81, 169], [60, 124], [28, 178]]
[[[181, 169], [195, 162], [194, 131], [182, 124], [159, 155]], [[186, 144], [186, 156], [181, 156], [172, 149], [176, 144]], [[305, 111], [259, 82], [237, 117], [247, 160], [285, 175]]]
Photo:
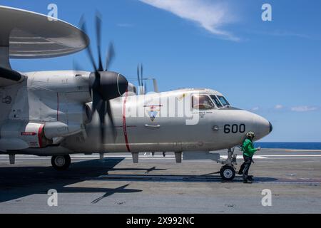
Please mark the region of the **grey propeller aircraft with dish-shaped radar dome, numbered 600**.
[[[0, 21], [7, 21], [0, 25], [4, 31], [0, 35], [0, 152], [9, 154], [11, 164], [16, 154], [52, 156], [53, 167], [66, 170], [70, 155], [76, 153], [131, 152], [133, 162], [138, 162], [139, 152], [174, 152], [176, 162], [181, 162], [182, 155], [221, 162], [220, 175], [233, 180], [233, 147], [243, 142], [248, 131], [255, 132], [256, 140], [272, 131], [265, 118], [233, 108], [215, 90], [138, 94], [124, 76], [108, 71], [113, 46], [103, 68], [99, 16], [98, 64], [84, 23], [78, 29], [4, 6]], [[85, 48], [93, 72], [20, 73], [9, 63], [9, 58], [49, 58]], [[227, 160], [212, 152], [222, 149], [228, 149]]]

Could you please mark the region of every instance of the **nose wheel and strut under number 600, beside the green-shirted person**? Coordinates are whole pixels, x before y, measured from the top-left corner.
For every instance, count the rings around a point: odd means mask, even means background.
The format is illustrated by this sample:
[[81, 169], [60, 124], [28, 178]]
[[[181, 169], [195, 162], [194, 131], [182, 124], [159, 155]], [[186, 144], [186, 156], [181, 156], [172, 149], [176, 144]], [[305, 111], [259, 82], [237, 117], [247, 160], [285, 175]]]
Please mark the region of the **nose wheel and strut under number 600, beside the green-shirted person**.
[[233, 180], [235, 177], [235, 165], [238, 165], [236, 162], [236, 155], [233, 155], [234, 148], [228, 149], [228, 159], [227, 160], [218, 160], [223, 167], [220, 169], [220, 177], [223, 180]]

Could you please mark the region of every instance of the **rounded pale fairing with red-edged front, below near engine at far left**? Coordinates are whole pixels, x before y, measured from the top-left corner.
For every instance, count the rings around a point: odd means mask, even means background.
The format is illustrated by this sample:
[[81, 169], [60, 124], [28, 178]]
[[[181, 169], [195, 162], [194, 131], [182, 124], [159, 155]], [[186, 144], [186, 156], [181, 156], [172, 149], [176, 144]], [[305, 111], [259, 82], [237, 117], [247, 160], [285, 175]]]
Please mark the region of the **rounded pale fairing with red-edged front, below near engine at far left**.
[[2, 126], [0, 135], [1, 150], [41, 148], [51, 143], [41, 123], [9, 122]]

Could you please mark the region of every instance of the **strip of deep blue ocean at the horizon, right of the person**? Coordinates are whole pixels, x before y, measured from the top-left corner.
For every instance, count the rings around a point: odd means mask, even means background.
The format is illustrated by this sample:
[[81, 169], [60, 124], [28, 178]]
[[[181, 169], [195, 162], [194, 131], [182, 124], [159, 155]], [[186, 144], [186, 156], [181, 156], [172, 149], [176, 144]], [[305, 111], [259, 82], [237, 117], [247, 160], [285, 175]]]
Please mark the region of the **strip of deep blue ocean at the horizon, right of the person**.
[[267, 149], [321, 150], [321, 142], [255, 142], [255, 147]]

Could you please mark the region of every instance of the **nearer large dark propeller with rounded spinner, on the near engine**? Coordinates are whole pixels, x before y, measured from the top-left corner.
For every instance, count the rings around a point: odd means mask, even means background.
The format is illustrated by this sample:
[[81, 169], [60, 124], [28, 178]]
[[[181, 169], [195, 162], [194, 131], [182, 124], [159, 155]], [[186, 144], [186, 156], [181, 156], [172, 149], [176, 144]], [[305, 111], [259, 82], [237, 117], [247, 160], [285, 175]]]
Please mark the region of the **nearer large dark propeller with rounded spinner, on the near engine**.
[[[113, 133], [113, 141], [116, 141], [117, 132], [115, 128], [115, 123], [113, 120], [113, 112], [111, 110], [110, 100], [118, 98], [123, 93], [126, 92], [128, 88], [127, 79], [120, 73], [108, 71], [111, 62], [115, 56], [115, 51], [113, 48], [113, 43], [109, 44], [107, 56], [106, 56], [106, 66], [103, 68], [103, 61], [101, 58], [101, 14], [96, 12], [96, 39], [97, 39], [97, 50], [98, 50], [98, 65], [96, 65], [95, 58], [93, 57], [93, 52], [91, 47], [87, 47], [88, 57], [91, 61], [91, 66], [93, 67], [93, 72], [89, 76], [89, 88], [91, 90], [91, 97], [93, 99], [93, 105], [91, 108], [91, 116], [96, 111], [99, 115], [100, 120], [100, 135], [101, 143], [103, 144], [105, 139], [105, 116], [108, 114], [108, 118], [111, 122], [111, 130]], [[80, 22], [81, 30], [86, 33], [86, 23], [83, 17]], [[85, 35], [83, 35], [85, 36]], [[83, 37], [85, 40], [86, 37]]]

